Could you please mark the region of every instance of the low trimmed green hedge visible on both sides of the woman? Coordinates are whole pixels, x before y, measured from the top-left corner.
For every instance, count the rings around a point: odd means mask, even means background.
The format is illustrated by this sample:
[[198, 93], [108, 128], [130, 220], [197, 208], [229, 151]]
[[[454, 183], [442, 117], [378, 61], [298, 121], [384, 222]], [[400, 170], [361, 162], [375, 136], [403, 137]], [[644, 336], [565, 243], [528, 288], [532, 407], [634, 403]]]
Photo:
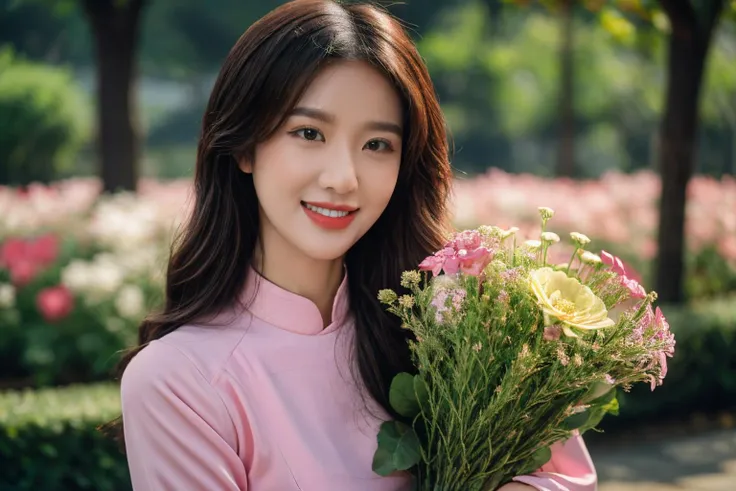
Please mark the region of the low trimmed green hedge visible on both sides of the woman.
[[[665, 313], [677, 347], [664, 385], [623, 394], [604, 430], [736, 407], [736, 300]], [[119, 404], [115, 385], [0, 394], [0, 490], [129, 490], [125, 457], [95, 429]]]

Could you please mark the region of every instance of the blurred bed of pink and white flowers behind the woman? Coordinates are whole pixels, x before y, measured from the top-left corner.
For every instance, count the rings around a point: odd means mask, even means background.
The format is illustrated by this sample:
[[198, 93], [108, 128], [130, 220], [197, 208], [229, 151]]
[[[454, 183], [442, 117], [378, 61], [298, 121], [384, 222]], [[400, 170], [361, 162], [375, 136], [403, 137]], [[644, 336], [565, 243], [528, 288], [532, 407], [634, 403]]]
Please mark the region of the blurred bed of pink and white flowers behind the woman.
[[[536, 206], [549, 204], [560, 233], [590, 231], [651, 288], [658, 186], [646, 172], [577, 182], [490, 171], [457, 180], [455, 222], [518, 224], [519, 235], [531, 237]], [[109, 377], [117, 352], [159, 304], [168, 247], [189, 196], [187, 181], [143, 180], [137, 195], [102, 197], [95, 179], [0, 187], [0, 387]], [[693, 298], [736, 291], [734, 209], [736, 180], [692, 181], [686, 283]], [[564, 247], [556, 252], [552, 260], [569, 258]]]

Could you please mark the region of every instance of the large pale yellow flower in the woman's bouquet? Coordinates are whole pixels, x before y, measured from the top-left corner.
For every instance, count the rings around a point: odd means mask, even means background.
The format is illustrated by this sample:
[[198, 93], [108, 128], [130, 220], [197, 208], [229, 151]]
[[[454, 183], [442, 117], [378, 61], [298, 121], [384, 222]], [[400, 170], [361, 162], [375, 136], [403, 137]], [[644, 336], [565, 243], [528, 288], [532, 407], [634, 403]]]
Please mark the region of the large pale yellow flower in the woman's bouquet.
[[568, 326], [601, 329], [615, 324], [608, 317], [603, 301], [590, 288], [562, 271], [552, 268], [532, 271], [531, 288], [542, 311], [563, 323], [563, 331], [568, 336], [576, 337]]

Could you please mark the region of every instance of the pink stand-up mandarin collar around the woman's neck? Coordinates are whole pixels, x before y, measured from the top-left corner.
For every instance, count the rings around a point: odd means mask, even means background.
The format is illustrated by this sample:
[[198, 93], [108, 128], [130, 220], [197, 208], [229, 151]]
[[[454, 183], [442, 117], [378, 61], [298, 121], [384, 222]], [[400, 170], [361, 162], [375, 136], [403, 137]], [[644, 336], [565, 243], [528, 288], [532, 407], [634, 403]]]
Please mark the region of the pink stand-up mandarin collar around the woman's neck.
[[259, 319], [302, 335], [327, 334], [344, 324], [349, 311], [347, 271], [332, 303], [332, 322], [324, 327], [317, 305], [306, 297], [281, 288], [249, 266], [243, 302]]

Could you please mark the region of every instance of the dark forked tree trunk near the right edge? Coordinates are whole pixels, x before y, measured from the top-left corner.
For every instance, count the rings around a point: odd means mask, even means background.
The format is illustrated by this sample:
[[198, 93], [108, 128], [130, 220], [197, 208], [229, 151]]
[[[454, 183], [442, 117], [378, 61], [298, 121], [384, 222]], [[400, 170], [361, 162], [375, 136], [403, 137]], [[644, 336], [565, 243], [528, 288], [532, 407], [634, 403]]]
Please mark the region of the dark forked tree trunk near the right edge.
[[[670, 18], [667, 94], [660, 136], [659, 170], [662, 196], [659, 205], [655, 290], [664, 303], [685, 300], [685, 201], [695, 167], [698, 106], [705, 60], [723, 0], [710, 0], [707, 22], [702, 22], [689, 0], [660, 0]], [[712, 18], [711, 18], [712, 15]]]

